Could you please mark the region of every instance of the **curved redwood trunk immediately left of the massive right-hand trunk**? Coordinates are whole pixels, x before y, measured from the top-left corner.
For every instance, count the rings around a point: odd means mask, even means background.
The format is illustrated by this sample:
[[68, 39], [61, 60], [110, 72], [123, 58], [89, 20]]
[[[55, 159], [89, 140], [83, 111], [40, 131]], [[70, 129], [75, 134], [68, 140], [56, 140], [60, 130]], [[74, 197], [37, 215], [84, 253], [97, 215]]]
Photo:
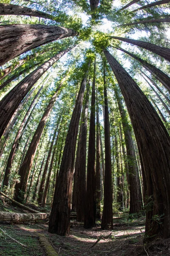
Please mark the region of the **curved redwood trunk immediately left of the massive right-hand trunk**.
[[139, 180], [139, 170], [136, 161], [135, 148], [131, 135], [131, 128], [128, 123], [127, 113], [123, 107], [118, 89], [114, 87], [116, 100], [118, 103], [120, 115], [122, 118], [122, 126], [125, 135], [125, 145], [127, 151], [127, 163], [129, 169], [129, 189], [130, 189], [130, 214], [140, 212], [142, 210], [142, 191]]

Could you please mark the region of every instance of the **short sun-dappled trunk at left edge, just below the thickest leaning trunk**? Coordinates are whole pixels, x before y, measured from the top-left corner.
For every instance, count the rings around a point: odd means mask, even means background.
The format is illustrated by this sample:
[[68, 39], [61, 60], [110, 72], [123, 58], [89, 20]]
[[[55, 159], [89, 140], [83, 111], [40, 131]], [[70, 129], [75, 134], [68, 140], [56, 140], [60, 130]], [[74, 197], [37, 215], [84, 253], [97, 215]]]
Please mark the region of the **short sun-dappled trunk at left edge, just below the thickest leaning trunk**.
[[[6, 67], [3, 70], [0, 70], [0, 80], [5, 78], [6, 76], [8, 76], [8, 74], [10, 74], [12, 71], [16, 70], [18, 67], [22, 66], [26, 61], [29, 61], [32, 58], [36, 57], [36, 55], [37, 54], [27, 55], [25, 58], [22, 58], [19, 61], [17, 61], [16, 64], [12, 64], [11, 66]], [[0, 89], [2, 89], [1, 86], [0, 86]]]

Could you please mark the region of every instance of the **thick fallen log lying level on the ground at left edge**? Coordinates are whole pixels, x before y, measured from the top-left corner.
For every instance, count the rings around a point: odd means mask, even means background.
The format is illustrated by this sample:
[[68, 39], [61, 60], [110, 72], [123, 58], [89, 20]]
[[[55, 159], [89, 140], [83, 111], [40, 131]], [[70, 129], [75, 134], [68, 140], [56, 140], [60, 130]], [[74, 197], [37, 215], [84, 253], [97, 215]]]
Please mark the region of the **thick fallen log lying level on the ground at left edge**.
[[50, 217], [50, 212], [46, 212], [46, 213], [0, 212], [0, 221], [12, 221], [12, 222], [40, 221], [49, 217]]

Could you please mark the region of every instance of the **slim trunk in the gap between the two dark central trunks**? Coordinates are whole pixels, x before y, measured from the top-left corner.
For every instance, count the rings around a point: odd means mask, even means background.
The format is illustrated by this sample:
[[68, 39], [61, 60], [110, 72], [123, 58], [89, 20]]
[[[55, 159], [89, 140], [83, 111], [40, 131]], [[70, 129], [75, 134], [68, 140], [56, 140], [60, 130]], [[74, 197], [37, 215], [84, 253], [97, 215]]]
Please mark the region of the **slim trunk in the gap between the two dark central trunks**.
[[100, 168], [100, 121], [99, 121], [99, 102], [96, 90], [96, 218], [101, 218], [101, 168]]

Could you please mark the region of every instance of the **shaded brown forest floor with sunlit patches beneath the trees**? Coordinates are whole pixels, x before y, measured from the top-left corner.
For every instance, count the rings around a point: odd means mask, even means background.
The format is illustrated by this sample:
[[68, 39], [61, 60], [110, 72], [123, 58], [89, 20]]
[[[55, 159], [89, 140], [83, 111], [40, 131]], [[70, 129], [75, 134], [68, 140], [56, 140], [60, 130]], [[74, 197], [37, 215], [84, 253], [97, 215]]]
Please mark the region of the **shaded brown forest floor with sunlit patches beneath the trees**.
[[[2, 201], [0, 211], [26, 213]], [[48, 233], [48, 220], [24, 224], [1, 221], [0, 229], [5, 233], [0, 230], [0, 256], [169, 256], [170, 239], [143, 244], [144, 221], [144, 217], [129, 217], [127, 213], [119, 212], [114, 215], [111, 231], [101, 230], [100, 221], [88, 230], [75, 222], [71, 225], [70, 236], [66, 237]], [[47, 253], [40, 243], [40, 236], [45, 237], [56, 254]]]

